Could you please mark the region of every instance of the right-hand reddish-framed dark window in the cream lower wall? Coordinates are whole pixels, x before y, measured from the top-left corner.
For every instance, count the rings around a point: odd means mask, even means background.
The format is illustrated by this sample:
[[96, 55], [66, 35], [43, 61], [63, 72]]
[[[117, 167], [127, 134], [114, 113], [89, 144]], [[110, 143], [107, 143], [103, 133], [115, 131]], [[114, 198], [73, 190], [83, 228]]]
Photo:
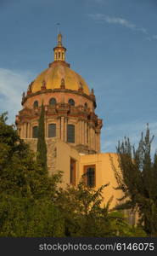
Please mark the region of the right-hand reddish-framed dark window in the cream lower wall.
[[85, 181], [88, 187], [95, 187], [95, 166], [84, 166]]

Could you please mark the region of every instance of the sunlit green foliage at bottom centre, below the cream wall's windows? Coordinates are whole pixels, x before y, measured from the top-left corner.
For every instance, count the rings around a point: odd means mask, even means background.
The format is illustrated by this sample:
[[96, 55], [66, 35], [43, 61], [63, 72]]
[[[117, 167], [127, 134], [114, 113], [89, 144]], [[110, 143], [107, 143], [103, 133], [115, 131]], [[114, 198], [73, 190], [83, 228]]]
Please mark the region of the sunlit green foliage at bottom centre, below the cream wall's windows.
[[[59, 189], [55, 204], [63, 212], [65, 236], [136, 236], [137, 230], [126, 223], [121, 212], [110, 212], [108, 201], [103, 206], [103, 190], [89, 188], [83, 180], [75, 187]], [[144, 232], [138, 231], [138, 235]]]

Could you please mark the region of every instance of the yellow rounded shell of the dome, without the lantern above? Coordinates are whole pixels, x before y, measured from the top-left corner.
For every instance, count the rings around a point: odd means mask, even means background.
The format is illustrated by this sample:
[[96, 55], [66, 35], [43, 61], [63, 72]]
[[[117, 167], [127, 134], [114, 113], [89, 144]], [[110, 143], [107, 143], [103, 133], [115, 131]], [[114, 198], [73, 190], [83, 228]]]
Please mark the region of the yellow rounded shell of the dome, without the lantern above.
[[[66, 63], [66, 62], [64, 62]], [[81, 76], [64, 65], [62, 61], [54, 61], [46, 70], [44, 70], [34, 82], [31, 84], [31, 91], [34, 93], [41, 90], [42, 84], [45, 83], [47, 89], [59, 89], [61, 80], [64, 79], [65, 89], [78, 90], [83, 89], [83, 92], [90, 95], [87, 83]]]

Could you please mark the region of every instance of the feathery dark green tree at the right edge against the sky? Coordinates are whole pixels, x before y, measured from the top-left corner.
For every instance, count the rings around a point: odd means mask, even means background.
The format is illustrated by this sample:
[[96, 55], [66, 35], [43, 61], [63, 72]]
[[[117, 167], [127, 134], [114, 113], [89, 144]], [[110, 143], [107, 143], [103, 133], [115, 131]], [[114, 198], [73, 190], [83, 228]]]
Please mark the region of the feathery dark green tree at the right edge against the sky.
[[118, 208], [136, 210], [139, 224], [148, 236], [157, 236], [157, 154], [152, 160], [153, 139], [150, 138], [149, 125], [145, 136], [142, 133], [137, 149], [125, 137], [117, 147], [121, 172], [113, 165], [118, 183], [116, 189], [124, 193]]

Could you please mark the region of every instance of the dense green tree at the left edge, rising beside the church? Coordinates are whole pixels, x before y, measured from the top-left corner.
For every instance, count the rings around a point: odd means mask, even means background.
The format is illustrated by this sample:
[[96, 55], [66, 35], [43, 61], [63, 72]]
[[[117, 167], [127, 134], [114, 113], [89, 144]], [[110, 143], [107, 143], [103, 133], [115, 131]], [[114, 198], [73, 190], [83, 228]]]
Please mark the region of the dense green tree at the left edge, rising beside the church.
[[64, 236], [55, 207], [60, 174], [48, 177], [29, 146], [0, 116], [0, 236]]

